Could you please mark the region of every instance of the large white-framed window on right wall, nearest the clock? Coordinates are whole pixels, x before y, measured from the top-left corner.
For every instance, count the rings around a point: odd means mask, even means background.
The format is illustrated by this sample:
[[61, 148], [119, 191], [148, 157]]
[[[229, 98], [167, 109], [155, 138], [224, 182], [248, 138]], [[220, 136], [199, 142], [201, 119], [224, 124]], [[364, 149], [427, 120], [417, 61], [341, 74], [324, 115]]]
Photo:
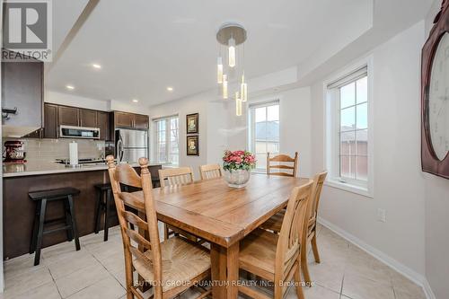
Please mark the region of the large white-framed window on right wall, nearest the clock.
[[371, 195], [368, 66], [326, 85], [330, 183]]

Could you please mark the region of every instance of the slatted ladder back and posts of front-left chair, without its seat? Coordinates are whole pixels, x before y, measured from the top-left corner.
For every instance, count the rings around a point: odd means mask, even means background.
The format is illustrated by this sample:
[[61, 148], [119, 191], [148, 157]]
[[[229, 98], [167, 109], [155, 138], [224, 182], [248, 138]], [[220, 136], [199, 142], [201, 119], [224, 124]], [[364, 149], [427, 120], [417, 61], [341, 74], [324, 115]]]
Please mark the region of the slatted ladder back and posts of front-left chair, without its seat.
[[[151, 174], [148, 170], [148, 161], [145, 158], [139, 159], [141, 175], [128, 164], [114, 163], [114, 157], [108, 156], [108, 171], [110, 174], [110, 185], [114, 194], [114, 201], [119, 215], [119, 224], [121, 230], [122, 241], [125, 252], [125, 274], [127, 290], [131, 290], [136, 294], [136, 287], [133, 279], [133, 256], [142, 260], [146, 264], [152, 266], [154, 273], [154, 297], [162, 298], [162, 254], [159, 238], [159, 230], [157, 226], [157, 215], [154, 207], [153, 185], [151, 181]], [[144, 203], [142, 203], [132, 193], [121, 190], [121, 185], [141, 188], [144, 194]], [[141, 213], [144, 213], [145, 220], [139, 215], [131, 211], [125, 211], [125, 205], [135, 207]], [[139, 233], [129, 228], [129, 224], [136, 225], [139, 230], [143, 230], [148, 235], [148, 240], [145, 240]], [[133, 244], [136, 242], [136, 246]], [[140, 250], [147, 250], [149, 253], [141, 252]]]

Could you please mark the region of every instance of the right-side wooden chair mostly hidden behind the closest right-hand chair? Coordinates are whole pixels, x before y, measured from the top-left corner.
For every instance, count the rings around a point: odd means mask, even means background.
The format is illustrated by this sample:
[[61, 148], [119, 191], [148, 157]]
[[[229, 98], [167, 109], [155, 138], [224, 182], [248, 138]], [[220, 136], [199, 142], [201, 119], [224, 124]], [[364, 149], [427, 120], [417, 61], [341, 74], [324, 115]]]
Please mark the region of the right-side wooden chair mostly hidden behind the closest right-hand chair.
[[[313, 193], [312, 200], [309, 203], [309, 207], [307, 208], [307, 237], [304, 238], [303, 248], [304, 251], [301, 252], [301, 266], [304, 272], [304, 280], [307, 283], [311, 283], [311, 277], [309, 274], [309, 268], [307, 264], [307, 244], [310, 242], [313, 250], [313, 257], [315, 262], [320, 263], [320, 253], [318, 252], [318, 245], [316, 242], [316, 220], [318, 217], [318, 206], [320, 204], [321, 198], [321, 190], [324, 184], [324, 180], [326, 180], [326, 176], [328, 175], [327, 171], [323, 171], [317, 173], [313, 177]], [[280, 211], [276, 215], [273, 215], [266, 221], [264, 224], [260, 225], [260, 228], [264, 230], [269, 230], [271, 232], [280, 233], [283, 219], [285, 218], [286, 211]]]

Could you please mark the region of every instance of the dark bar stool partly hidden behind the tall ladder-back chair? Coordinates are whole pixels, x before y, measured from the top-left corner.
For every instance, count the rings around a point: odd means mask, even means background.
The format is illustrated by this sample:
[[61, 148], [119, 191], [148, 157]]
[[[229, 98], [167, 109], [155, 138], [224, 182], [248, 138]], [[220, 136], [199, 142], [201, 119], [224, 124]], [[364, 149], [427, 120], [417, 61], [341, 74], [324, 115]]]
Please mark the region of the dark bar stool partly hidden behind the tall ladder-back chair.
[[[116, 214], [110, 214], [110, 206], [113, 201], [112, 199], [112, 189], [110, 184], [97, 184], [94, 186], [97, 192], [97, 202], [96, 202], [96, 214], [95, 214], [95, 233], [100, 231], [100, 219], [101, 213], [104, 213], [104, 237], [103, 241], [108, 241], [108, 232], [110, 228], [110, 216], [115, 216]], [[103, 200], [104, 199], [104, 200]], [[112, 205], [112, 207], [114, 207]], [[114, 207], [115, 209], [115, 207]]]

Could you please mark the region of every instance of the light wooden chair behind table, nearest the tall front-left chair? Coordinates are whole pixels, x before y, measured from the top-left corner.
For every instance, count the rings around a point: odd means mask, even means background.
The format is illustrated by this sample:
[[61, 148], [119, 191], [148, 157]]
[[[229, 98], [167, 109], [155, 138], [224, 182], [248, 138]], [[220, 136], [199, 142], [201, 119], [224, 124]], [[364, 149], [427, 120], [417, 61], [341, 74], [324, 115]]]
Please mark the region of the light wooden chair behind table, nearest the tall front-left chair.
[[[167, 186], [182, 186], [191, 184], [194, 180], [193, 171], [190, 167], [167, 168], [159, 170], [159, 180], [161, 188]], [[171, 225], [163, 224], [163, 234], [165, 240], [172, 234], [179, 234], [180, 230]], [[190, 233], [181, 233], [182, 236], [193, 242], [198, 242], [198, 238]]]

